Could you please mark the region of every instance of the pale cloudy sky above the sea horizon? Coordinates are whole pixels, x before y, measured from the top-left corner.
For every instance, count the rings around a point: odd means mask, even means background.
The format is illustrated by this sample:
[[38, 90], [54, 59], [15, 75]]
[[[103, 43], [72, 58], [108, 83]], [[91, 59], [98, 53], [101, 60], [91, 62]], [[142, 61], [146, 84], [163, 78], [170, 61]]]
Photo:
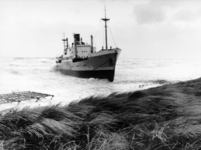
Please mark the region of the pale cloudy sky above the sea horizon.
[[56, 57], [74, 33], [99, 50], [105, 6], [120, 57], [201, 58], [200, 0], [0, 0], [0, 57]]

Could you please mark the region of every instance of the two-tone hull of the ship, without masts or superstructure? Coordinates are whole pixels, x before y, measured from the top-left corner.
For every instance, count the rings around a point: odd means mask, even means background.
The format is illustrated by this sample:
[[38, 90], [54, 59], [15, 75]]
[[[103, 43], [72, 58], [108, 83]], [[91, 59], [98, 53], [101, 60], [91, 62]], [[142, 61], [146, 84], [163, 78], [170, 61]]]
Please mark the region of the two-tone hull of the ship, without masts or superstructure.
[[120, 50], [103, 51], [83, 59], [62, 60], [57, 69], [66, 75], [81, 78], [108, 79], [113, 82]]

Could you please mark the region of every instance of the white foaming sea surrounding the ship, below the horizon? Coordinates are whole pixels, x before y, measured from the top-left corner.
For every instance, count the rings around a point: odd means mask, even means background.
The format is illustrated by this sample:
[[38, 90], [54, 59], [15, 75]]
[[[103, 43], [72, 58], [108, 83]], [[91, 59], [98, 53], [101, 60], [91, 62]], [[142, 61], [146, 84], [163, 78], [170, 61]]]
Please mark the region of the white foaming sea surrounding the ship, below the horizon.
[[61, 74], [55, 58], [0, 58], [0, 94], [33, 91], [54, 95], [40, 102], [0, 105], [0, 110], [68, 105], [90, 96], [133, 92], [201, 77], [201, 59], [119, 58], [114, 82]]

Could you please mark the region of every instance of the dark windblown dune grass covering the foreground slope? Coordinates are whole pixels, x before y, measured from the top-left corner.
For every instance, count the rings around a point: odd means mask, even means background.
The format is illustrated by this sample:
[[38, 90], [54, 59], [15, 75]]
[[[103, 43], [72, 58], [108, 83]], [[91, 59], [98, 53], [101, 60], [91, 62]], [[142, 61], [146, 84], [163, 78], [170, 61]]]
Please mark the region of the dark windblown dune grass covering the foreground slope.
[[201, 78], [0, 116], [6, 150], [201, 149]]

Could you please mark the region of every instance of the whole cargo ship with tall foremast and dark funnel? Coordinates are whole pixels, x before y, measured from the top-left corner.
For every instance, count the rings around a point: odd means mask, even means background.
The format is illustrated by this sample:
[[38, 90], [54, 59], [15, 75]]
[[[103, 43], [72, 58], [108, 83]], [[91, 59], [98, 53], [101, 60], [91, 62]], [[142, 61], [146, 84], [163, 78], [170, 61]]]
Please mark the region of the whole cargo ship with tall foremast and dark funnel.
[[105, 47], [99, 51], [93, 46], [93, 36], [91, 43], [82, 41], [80, 34], [74, 34], [74, 43], [68, 44], [68, 38], [62, 39], [64, 42], [63, 55], [56, 58], [56, 68], [61, 73], [81, 77], [98, 78], [114, 81], [115, 67], [121, 49], [108, 48], [107, 41], [107, 21], [110, 19], [102, 18], [105, 22]]

